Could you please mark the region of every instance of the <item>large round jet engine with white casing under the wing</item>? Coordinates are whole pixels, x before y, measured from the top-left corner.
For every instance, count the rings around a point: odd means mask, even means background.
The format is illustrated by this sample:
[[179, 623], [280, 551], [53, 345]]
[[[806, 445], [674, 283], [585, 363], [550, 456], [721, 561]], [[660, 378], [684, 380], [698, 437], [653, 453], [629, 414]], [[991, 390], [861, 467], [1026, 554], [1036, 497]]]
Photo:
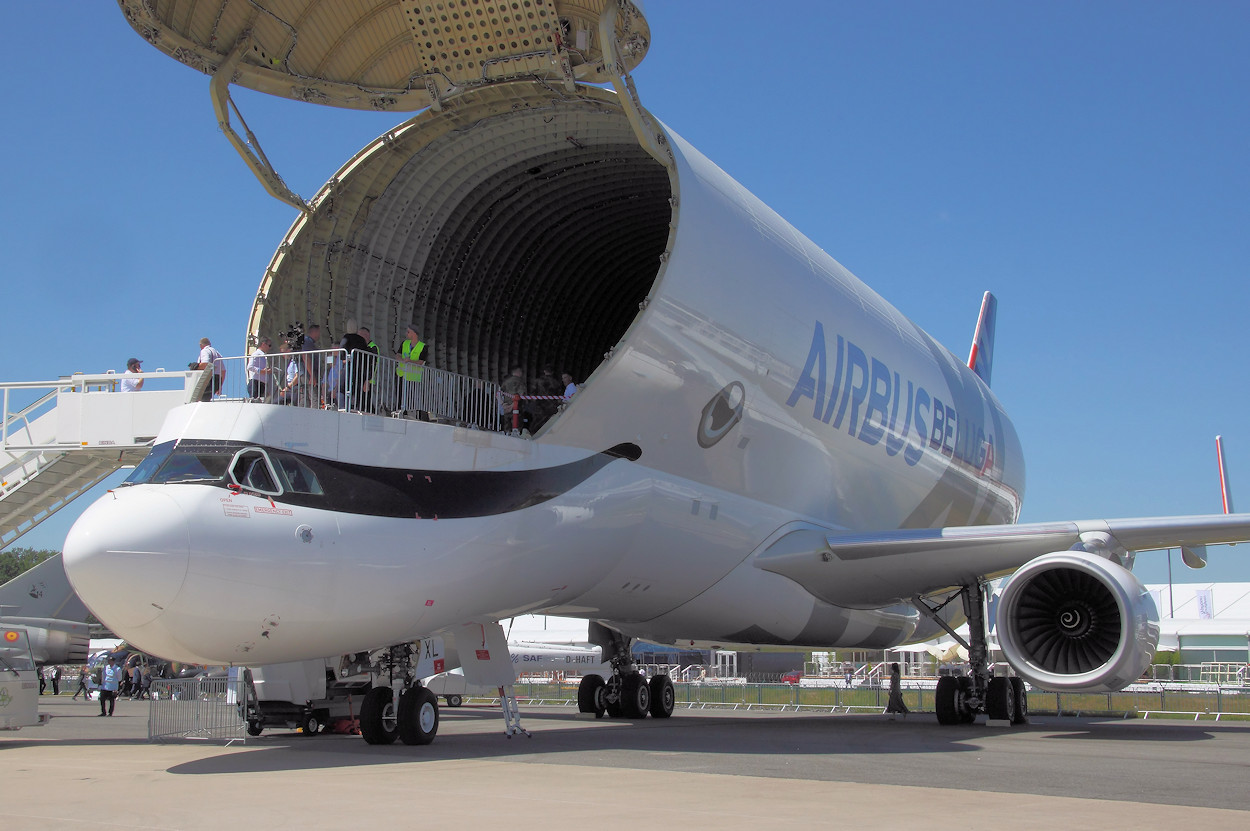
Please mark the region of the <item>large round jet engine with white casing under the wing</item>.
[[1159, 611], [1128, 569], [1081, 551], [1020, 567], [999, 597], [999, 649], [1034, 686], [1110, 692], [1141, 677], [1159, 646]]

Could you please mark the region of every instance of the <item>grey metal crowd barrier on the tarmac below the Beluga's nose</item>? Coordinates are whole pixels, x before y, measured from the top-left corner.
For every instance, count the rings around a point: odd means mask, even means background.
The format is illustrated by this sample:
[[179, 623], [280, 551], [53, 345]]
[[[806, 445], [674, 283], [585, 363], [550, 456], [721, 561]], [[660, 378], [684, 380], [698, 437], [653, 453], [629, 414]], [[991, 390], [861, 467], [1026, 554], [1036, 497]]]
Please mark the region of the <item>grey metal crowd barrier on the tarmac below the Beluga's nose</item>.
[[160, 679], [151, 686], [148, 741], [245, 741], [248, 684], [234, 677]]

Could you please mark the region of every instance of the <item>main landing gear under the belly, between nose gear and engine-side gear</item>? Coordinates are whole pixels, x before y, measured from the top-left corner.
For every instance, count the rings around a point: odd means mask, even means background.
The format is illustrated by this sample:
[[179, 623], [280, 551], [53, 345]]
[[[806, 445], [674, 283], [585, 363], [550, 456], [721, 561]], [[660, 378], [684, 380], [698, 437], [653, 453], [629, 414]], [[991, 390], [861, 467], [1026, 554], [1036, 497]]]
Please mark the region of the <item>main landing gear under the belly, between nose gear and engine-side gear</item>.
[[612, 719], [668, 719], [676, 704], [672, 681], [666, 675], [648, 680], [630, 656], [630, 640], [615, 630], [596, 622], [590, 624], [590, 640], [599, 644], [611, 664], [612, 674], [606, 681], [598, 675], [581, 679], [578, 687], [578, 712], [605, 715]]

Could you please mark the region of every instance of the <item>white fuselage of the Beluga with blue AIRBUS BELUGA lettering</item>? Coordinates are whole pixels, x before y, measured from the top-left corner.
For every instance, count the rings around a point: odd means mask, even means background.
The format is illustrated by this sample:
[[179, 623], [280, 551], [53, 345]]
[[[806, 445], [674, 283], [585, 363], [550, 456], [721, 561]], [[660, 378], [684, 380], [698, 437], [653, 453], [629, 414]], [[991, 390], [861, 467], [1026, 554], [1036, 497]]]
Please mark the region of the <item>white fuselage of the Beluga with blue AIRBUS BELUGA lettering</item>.
[[[752, 554], [795, 527], [1015, 521], [1024, 466], [1011, 424], [959, 359], [668, 137], [679, 195], [668, 261], [624, 339], [538, 437], [188, 405], [158, 445], [285, 450], [430, 490], [409, 516], [370, 512], [360, 477], [342, 485], [350, 499], [326, 481], [325, 500], [299, 504], [224, 482], [115, 489], [66, 541], [85, 602], [145, 651], [209, 664], [352, 652], [532, 611], [669, 641], [915, 636], [918, 615], [895, 605], [885, 576], [864, 586], [879, 609], [845, 610], [756, 569]], [[620, 445], [636, 460], [602, 457]], [[506, 510], [478, 505], [534, 484], [515, 474], [578, 465], [594, 470], [542, 480]]]

